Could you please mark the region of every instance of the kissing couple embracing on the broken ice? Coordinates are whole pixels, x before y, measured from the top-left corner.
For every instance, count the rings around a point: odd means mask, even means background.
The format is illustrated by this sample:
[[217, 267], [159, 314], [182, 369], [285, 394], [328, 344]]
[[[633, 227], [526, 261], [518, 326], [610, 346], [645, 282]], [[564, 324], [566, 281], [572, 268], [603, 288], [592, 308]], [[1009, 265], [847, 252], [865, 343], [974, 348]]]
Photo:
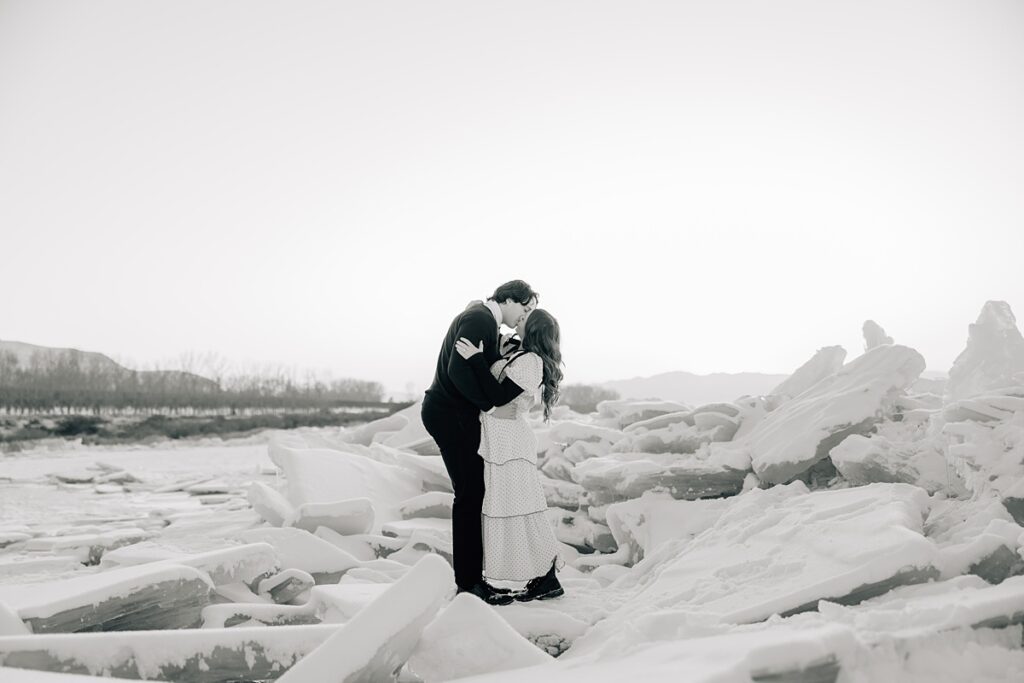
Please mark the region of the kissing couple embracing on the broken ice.
[[[452, 547], [459, 593], [492, 605], [564, 593], [558, 542], [537, 469], [537, 436], [562, 380], [558, 321], [521, 280], [474, 301], [449, 326], [421, 416], [452, 477]], [[501, 334], [501, 327], [515, 335]], [[526, 582], [518, 591], [490, 582]]]

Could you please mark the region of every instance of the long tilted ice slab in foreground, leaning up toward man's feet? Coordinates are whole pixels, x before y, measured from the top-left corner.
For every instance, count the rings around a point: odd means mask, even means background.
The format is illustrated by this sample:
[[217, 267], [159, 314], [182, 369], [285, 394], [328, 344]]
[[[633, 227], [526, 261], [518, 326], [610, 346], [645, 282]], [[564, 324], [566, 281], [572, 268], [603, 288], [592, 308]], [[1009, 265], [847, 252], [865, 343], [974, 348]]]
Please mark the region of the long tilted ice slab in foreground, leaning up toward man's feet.
[[443, 560], [424, 557], [279, 680], [316, 683], [387, 679], [406, 664], [423, 629], [454, 586], [452, 568]]

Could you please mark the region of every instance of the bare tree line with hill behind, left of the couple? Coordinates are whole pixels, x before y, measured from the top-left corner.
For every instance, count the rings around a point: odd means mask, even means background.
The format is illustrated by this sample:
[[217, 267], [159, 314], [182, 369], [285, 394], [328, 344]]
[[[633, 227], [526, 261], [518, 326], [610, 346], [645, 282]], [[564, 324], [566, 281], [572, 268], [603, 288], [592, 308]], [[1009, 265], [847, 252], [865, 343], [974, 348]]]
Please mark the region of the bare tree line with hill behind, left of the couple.
[[[0, 350], [0, 410], [58, 412], [228, 412], [329, 410], [383, 402], [379, 382], [321, 380], [267, 367], [227, 372], [215, 356], [182, 355], [175, 370], [136, 371], [75, 350]], [[205, 370], [208, 376], [197, 370]]]

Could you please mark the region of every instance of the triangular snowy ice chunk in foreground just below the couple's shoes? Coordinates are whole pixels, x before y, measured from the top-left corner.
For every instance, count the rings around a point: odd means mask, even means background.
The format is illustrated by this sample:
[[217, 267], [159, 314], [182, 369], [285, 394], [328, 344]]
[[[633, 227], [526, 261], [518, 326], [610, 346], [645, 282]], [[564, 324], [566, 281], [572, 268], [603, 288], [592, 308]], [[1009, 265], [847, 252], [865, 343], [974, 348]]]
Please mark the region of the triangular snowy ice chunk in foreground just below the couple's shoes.
[[482, 600], [462, 594], [423, 630], [409, 668], [431, 683], [553, 660]]

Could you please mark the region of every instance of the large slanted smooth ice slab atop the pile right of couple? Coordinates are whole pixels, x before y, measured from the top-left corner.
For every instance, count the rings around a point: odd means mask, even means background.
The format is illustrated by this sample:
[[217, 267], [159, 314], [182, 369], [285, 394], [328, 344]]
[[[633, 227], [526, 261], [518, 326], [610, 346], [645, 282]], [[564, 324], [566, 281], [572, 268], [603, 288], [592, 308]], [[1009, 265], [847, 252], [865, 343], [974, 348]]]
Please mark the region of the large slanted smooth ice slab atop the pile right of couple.
[[754, 471], [781, 483], [826, 458], [844, 438], [870, 430], [918, 379], [925, 359], [906, 346], [879, 346], [772, 413], [748, 435]]

